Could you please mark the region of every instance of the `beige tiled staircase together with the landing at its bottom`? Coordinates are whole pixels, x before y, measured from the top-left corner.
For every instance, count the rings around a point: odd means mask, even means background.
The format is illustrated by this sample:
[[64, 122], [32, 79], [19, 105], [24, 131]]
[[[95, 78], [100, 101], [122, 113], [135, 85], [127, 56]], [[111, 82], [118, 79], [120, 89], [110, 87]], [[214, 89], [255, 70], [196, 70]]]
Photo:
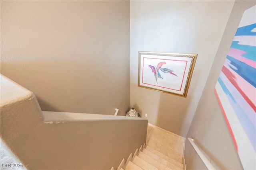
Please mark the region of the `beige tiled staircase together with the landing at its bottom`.
[[117, 170], [186, 170], [185, 160], [182, 160], [183, 137], [159, 127], [148, 126], [147, 143], [148, 145], [144, 144], [139, 150], [136, 149], [134, 154], [131, 153], [126, 161], [123, 159]]

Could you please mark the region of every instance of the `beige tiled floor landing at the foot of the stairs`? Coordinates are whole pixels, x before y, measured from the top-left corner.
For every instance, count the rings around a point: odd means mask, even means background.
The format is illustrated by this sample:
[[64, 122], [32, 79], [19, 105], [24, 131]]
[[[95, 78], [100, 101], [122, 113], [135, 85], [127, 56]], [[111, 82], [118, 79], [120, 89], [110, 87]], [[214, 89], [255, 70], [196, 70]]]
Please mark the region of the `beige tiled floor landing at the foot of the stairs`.
[[147, 145], [178, 162], [183, 159], [184, 140], [174, 133], [148, 125]]

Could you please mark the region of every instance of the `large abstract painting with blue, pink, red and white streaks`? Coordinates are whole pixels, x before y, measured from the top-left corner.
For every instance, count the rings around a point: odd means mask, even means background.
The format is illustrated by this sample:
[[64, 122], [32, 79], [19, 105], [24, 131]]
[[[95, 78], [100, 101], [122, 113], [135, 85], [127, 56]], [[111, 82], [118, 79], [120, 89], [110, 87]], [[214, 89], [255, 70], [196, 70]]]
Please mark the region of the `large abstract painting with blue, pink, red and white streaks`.
[[242, 16], [214, 91], [243, 168], [255, 170], [256, 6]]

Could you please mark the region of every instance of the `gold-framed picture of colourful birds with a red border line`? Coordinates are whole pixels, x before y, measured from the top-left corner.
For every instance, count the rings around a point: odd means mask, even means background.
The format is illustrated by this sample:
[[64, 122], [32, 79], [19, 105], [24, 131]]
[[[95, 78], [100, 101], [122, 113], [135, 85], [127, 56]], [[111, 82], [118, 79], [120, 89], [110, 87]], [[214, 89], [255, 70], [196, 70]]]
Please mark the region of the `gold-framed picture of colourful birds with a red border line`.
[[186, 98], [196, 57], [139, 51], [138, 86]]

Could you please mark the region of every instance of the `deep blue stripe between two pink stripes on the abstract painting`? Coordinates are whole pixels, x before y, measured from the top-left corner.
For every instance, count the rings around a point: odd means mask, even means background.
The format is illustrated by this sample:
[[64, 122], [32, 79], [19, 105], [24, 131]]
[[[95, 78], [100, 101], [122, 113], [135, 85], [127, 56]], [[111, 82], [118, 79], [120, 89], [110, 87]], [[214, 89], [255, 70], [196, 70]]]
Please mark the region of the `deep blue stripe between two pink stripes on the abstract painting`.
[[256, 87], [256, 69], [238, 61], [230, 56], [227, 56], [227, 59], [230, 61], [230, 64], [235, 66], [236, 69], [229, 67], [230, 69], [234, 70], [237, 74], [239, 74], [244, 80], [248, 83], [252, 84], [252, 86]]

